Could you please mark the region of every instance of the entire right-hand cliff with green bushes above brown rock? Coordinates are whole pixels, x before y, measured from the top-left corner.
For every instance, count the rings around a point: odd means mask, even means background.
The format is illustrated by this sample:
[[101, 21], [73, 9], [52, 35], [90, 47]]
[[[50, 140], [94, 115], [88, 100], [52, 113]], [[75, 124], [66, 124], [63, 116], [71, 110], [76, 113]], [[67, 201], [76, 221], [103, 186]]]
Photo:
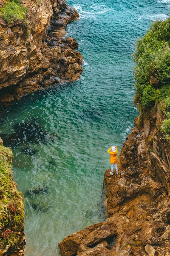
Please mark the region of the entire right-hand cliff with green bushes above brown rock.
[[63, 256], [170, 255], [170, 19], [156, 21], [133, 59], [140, 115], [106, 170], [107, 219], [59, 243]]

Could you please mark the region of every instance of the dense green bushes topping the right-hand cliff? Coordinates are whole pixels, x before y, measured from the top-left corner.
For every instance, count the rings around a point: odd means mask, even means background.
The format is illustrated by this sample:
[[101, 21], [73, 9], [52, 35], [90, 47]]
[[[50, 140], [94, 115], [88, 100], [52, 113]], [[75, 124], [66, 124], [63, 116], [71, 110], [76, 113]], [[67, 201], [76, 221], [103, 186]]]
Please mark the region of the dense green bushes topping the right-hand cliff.
[[161, 131], [170, 140], [170, 18], [156, 20], [133, 54], [136, 95], [141, 112], [161, 102], [164, 121]]

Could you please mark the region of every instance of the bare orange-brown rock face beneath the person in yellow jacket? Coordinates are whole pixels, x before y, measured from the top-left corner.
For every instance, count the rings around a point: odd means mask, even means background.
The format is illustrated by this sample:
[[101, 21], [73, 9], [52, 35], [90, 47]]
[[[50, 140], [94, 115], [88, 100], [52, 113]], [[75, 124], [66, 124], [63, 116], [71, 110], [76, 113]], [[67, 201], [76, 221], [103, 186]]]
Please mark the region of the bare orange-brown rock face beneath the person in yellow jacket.
[[62, 240], [62, 255], [76, 255], [81, 244], [97, 251], [96, 244], [115, 236], [103, 255], [170, 255], [170, 143], [159, 130], [162, 119], [156, 105], [145, 113], [142, 128], [133, 128], [119, 155], [119, 175], [105, 172], [108, 219]]

